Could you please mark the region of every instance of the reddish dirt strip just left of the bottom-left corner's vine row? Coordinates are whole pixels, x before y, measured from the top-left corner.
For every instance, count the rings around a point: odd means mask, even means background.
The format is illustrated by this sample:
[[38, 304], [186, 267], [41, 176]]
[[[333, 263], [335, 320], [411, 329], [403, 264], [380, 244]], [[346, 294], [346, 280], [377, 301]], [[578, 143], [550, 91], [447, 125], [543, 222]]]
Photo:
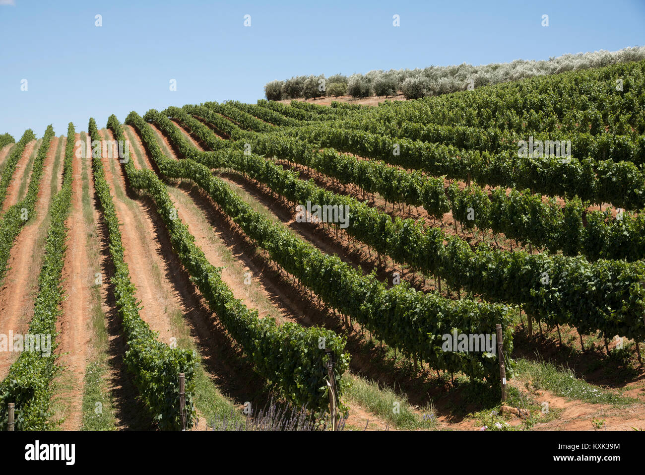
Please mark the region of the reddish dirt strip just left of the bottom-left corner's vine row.
[[[22, 228], [8, 262], [3, 287], [0, 288], [0, 334], [26, 333], [34, 316], [34, 298], [37, 292], [38, 275], [45, 251], [45, 218], [50, 207], [51, 185], [56, 145], [54, 137], [43, 164], [43, 174], [35, 203], [35, 216]], [[33, 150], [32, 145], [32, 150]], [[25, 162], [26, 152], [21, 161]], [[61, 170], [59, 170], [61, 172]], [[0, 352], [0, 379], [4, 379], [9, 367], [18, 357], [17, 352]]]

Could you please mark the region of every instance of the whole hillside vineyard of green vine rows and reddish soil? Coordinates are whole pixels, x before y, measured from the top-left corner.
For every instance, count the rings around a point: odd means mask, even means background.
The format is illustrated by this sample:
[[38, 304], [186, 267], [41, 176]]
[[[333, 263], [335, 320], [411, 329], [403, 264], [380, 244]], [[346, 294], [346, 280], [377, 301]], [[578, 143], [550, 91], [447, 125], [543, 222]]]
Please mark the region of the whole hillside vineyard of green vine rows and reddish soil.
[[645, 61], [490, 82], [0, 135], [0, 430], [643, 429]]

